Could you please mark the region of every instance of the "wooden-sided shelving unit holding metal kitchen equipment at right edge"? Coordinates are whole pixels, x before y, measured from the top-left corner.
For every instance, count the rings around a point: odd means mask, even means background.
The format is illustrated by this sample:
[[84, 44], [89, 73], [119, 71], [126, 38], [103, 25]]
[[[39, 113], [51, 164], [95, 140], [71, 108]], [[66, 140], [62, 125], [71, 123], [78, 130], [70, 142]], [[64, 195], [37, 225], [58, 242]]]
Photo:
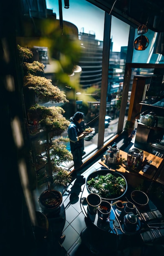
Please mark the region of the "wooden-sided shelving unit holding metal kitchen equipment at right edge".
[[134, 146], [149, 153], [164, 153], [164, 84], [163, 74], [134, 76], [128, 119], [134, 127]]

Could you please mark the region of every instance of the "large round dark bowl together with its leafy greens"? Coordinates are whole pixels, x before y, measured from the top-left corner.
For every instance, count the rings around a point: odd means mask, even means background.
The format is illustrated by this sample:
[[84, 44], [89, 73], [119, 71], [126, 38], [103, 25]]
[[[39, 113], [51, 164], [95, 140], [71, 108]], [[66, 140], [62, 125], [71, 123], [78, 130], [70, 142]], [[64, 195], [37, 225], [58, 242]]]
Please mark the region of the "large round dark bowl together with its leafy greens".
[[116, 171], [100, 169], [91, 173], [86, 179], [89, 193], [96, 193], [102, 199], [118, 200], [127, 191], [125, 177]]

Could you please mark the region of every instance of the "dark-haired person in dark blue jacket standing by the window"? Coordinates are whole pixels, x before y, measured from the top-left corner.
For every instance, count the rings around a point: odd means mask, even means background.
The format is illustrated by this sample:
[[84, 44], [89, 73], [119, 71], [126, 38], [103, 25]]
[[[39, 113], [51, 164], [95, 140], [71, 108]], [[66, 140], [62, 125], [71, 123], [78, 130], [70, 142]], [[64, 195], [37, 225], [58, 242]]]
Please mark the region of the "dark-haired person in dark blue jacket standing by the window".
[[84, 113], [76, 112], [73, 117], [70, 118], [70, 125], [68, 127], [68, 137], [70, 139], [70, 149], [73, 155], [74, 169], [77, 170], [83, 164], [82, 157], [84, 152], [84, 133], [85, 126], [83, 124]]

